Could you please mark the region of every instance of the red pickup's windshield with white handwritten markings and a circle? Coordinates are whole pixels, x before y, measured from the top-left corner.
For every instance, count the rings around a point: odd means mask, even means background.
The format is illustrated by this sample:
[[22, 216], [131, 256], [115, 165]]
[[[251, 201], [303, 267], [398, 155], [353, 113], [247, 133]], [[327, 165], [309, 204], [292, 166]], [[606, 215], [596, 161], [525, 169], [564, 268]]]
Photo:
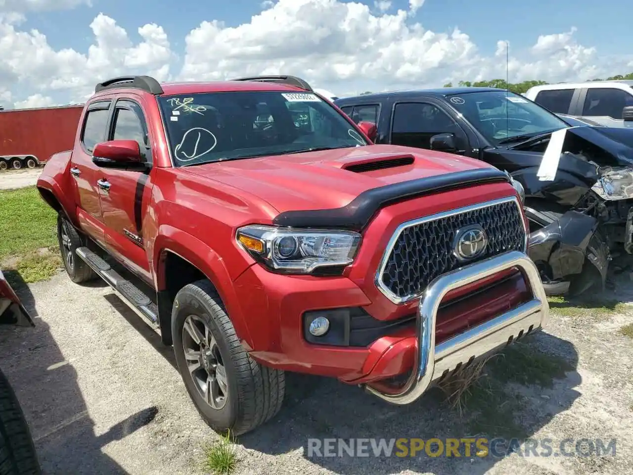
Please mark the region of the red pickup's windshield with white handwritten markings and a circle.
[[204, 92], [158, 102], [176, 167], [368, 144], [308, 92]]

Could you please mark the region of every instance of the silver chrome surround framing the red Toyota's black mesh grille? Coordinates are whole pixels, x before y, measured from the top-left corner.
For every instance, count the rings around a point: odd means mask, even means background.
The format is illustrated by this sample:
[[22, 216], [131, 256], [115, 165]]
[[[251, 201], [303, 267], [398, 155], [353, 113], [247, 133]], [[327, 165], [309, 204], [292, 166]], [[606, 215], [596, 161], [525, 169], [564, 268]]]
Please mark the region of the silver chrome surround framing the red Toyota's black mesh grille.
[[379, 289], [380, 293], [382, 293], [385, 297], [387, 297], [393, 303], [396, 303], [398, 305], [401, 303], [407, 303], [408, 301], [414, 300], [416, 298], [420, 298], [420, 296], [422, 296], [422, 294], [424, 293], [424, 290], [422, 290], [416, 294], [399, 297], [395, 295], [394, 293], [392, 293], [391, 290], [387, 288], [387, 286], [385, 286], [384, 282], [382, 282], [382, 273], [384, 272], [385, 267], [387, 267], [387, 261], [389, 260], [389, 255], [391, 255], [391, 251], [396, 245], [396, 242], [398, 241], [398, 238], [400, 237], [400, 234], [404, 229], [411, 226], [417, 226], [418, 224], [423, 224], [425, 222], [435, 221], [435, 220], [446, 218], [449, 216], [458, 215], [461, 213], [467, 213], [469, 211], [479, 210], [480, 208], [487, 208], [489, 206], [500, 205], [501, 203], [508, 203], [509, 201], [513, 201], [517, 205], [518, 211], [522, 217], [521, 223], [523, 225], [523, 231], [525, 232], [525, 239], [523, 239], [523, 252], [524, 253], [527, 252], [528, 232], [525, 227], [525, 219], [523, 219], [523, 210], [516, 196], [507, 196], [506, 198], [498, 198], [496, 200], [484, 201], [483, 203], [463, 206], [462, 208], [456, 208], [454, 210], [443, 211], [441, 213], [436, 213], [434, 215], [425, 216], [422, 218], [416, 218], [410, 221], [406, 221], [402, 223], [401, 225], [399, 225], [396, 228], [396, 231], [394, 231], [394, 234], [391, 236], [391, 239], [389, 239], [389, 243], [387, 243], [387, 248], [385, 248], [385, 251], [382, 254], [382, 258], [380, 259], [378, 270], [376, 271], [376, 274], [374, 277], [374, 283], [376, 287]]

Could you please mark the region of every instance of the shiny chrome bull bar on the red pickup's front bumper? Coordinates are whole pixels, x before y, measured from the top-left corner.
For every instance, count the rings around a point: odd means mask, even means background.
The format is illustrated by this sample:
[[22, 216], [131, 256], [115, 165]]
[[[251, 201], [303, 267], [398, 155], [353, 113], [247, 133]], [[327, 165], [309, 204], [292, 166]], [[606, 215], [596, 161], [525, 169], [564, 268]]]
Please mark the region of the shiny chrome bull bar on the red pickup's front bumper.
[[[450, 291], [512, 267], [522, 271], [532, 291], [532, 300], [494, 319], [457, 334], [436, 346], [436, 316], [440, 303]], [[396, 393], [384, 393], [371, 386], [368, 392], [387, 402], [404, 405], [417, 400], [433, 381], [446, 371], [486, 355], [512, 339], [549, 322], [549, 304], [536, 265], [520, 251], [510, 251], [473, 263], [437, 277], [420, 298], [417, 315], [418, 351], [413, 372]]]

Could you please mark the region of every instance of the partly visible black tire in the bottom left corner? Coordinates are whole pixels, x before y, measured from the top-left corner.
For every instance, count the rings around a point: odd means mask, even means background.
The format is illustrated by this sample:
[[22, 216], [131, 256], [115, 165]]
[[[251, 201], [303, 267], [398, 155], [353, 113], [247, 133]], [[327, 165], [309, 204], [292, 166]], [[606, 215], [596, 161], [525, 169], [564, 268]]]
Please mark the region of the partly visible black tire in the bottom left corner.
[[0, 475], [40, 475], [35, 444], [20, 403], [0, 371]]

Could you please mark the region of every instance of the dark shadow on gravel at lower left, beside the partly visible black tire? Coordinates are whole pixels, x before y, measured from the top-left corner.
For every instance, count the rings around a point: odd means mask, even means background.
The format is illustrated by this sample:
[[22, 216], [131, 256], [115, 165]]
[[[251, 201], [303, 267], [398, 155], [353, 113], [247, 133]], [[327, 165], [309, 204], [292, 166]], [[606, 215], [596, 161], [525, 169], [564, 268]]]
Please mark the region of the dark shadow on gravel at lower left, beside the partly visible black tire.
[[[12, 277], [12, 286], [32, 315], [33, 296]], [[158, 409], [147, 407], [96, 436], [94, 422], [77, 384], [77, 374], [64, 360], [49, 326], [36, 318], [32, 327], [0, 327], [0, 365], [25, 413], [45, 474], [127, 474], [102, 452], [153, 421]], [[34, 391], [33, 388], [46, 388]]]

